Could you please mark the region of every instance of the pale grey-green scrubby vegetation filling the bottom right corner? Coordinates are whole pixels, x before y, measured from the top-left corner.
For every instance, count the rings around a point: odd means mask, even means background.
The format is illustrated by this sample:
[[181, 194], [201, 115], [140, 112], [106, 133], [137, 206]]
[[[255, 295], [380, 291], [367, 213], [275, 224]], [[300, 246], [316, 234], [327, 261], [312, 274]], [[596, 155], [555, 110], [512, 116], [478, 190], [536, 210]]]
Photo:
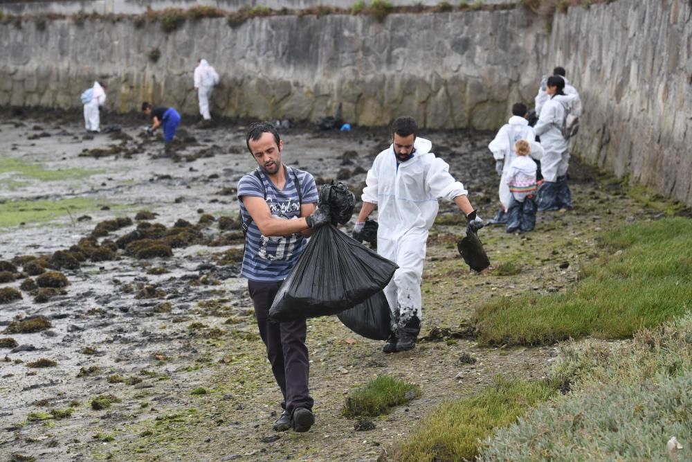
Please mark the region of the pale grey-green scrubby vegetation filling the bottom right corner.
[[668, 438], [692, 441], [691, 371], [692, 312], [632, 341], [567, 342], [551, 376], [572, 391], [499, 429], [481, 460], [670, 460]]

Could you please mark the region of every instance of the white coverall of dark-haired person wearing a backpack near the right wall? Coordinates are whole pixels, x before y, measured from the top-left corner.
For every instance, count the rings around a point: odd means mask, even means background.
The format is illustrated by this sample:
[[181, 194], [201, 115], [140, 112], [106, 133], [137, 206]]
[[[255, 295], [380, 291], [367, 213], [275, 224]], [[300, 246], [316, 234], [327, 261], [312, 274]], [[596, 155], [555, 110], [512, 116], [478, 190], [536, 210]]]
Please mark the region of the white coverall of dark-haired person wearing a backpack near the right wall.
[[570, 165], [570, 142], [562, 134], [565, 110], [574, 103], [574, 95], [556, 95], [549, 99], [540, 111], [534, 132], [540, 136], [543, 157], [540, 171], [545, 181], [554, 183], [557, 177], [567, 173]]

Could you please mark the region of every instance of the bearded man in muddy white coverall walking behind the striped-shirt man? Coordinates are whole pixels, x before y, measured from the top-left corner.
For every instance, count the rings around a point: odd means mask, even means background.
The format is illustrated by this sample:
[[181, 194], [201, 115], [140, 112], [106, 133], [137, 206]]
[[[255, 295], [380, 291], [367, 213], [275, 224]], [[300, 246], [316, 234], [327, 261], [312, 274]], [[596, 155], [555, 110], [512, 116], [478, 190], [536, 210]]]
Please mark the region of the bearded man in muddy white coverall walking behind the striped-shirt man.
[[417, 132], [411, 117], [392, 123], [392, 145], [378, 154], [367, 172], [363, 207], [353, 231], [353, 237], [362, 240], [365, 219], [377, 208], [377, 253], [399, 265], [384, 290], [392, 312], [385, 353], [415, 347], [421, 329], [426, 241], [437, 216], [437, 199], [455, 202], [472, 231], [484, 225], [468, 202], [464, 185], [455, 181], [448, 164], [430, 152], [432, 143], [417, 138]]

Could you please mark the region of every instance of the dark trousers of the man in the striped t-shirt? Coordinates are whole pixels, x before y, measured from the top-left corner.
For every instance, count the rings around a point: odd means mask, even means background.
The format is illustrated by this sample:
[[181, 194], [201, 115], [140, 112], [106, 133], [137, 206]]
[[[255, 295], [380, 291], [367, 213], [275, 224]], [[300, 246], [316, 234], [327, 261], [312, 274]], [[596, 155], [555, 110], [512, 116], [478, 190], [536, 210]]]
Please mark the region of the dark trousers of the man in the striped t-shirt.
[[282, 282], [248, 281], [248, 290], [255, 305], [257, 327], [266, 345], [271, 371], [284, 396], [281, 407], [292, 415], [299, 407], [312, 409], [314, 401], [308, 389], [310, 364], [305, 346], [305, 320], [285, 323], [269, 321], [269, 308], [281, 285]]

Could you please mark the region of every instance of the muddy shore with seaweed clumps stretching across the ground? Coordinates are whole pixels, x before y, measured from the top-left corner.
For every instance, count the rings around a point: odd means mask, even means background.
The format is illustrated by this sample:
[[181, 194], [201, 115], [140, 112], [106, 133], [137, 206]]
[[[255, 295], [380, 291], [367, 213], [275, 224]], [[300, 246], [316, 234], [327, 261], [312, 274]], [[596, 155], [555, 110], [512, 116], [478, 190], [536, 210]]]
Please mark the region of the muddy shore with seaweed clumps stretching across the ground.
[[[102, 123], [122, 130], [87, 136], [79, 114], [6, 114], [0, 123], [0, 158], [80, 172], [45, 179], [0, 170], [0, 201], [47, 199], [57, 211], [66, 199], [93, 204], [0, 233], [0, 260], [16, 269], [0, 290], [11, 287], [22, 297], [0, 304], [0, 339], [16, 344], [0, 346], [2, 460], [23, 454], [37, 461], [374, 461], [440, 402], [468, 396], [498, 374], [545, 375], [554, 346], [477, 346], [468, 335], [477, 304], [527, 290], [565, 290], [580, 265], [597, 257], [600, 231], [661, 216], [631, 199], [619, 181], [574, 162], [574, 210], [539, 215], [534, 233], [507, 235], [500, 226], [481, 232], [493, 267], [521, 268], [502, 276], [468, 271], [455, 247], [463, 218], [441, 204], [424, 273], [426, 340], [411, 352], [384, 355], [379, 342], [349, 332], [336, 317], [309, 320], [317, 422], [307, 434], [275, 434], [280, 392], [246, 281], [238, 277], [235, 186], [254, 162], [244, 125], [183, 121], [168, 158], [161, 157], [161, 139], [143, 135], [142, 119], [104, 116]], [[284, 162], [312, 172], [318, 183], [338, 178], [356, 191], [388, 145], [384, 130], [300, 127], [283, 136]], [[450, 163], [480, 215], [494, 215], [498, 177], [486, 149], [493, 134], [421, 136]], [[95, 232], [118, 218], [118, 226]], [[150, 233], [170, 249], [128, 247], [132, 233]], [[84, 260], [55, 257], [75, 245]], [[39, 278], [27, 273], [31, 261], [48, 262], [46, 271], [61, 272], [69, 284], [37, 301], [36, 287], [20, 287]], [[12, 327], [37, 316], [50, 327], [28, 333]], [[465, 355], [475, 364], [461, 361]], [[419, 384], [422, 396], [374, 419], [374, 429], [356, 432], [355, 421], [340, 414], [345, 395], [381, 374]]]

